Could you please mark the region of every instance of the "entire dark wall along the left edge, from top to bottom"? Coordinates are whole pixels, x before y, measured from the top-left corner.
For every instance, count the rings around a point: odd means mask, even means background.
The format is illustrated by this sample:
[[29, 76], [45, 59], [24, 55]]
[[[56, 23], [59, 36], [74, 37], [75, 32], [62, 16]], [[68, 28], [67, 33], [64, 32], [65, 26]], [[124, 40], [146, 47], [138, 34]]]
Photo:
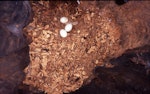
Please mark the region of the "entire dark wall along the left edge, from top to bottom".
[[23, 28], [32, 20], [28, 1], [0, 1], [0, 94], [16, 94], [30, 62]]

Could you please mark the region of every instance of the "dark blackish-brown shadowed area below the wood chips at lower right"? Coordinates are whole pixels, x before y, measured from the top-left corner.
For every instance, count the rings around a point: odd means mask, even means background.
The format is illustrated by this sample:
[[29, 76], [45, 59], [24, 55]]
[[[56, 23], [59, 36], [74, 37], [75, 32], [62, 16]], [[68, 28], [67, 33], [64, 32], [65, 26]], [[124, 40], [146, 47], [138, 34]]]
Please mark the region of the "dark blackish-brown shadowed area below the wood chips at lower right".
[[128, 50], [110, 62], [113, 68], [96, 67], [89, 84], [67, 94], [150, 94], [149, 46]]

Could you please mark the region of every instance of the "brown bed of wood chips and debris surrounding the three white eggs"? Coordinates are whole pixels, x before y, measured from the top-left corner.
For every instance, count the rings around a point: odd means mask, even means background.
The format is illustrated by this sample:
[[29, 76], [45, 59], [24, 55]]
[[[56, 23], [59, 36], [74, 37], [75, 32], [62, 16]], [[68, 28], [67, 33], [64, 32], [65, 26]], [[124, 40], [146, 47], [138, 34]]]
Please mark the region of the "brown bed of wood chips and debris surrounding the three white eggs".
[[[109, 60], [126, 50], [149, 45], [150, 2], [113, 1], [31, 2], [33, 22], [25, 29], [31, 38], [30, 64], [25, 84], [48, 94], [75, 91], [93, 78], [96, 66], [112, 67]], [[78, 22], [66, 38], [60, 18]]]

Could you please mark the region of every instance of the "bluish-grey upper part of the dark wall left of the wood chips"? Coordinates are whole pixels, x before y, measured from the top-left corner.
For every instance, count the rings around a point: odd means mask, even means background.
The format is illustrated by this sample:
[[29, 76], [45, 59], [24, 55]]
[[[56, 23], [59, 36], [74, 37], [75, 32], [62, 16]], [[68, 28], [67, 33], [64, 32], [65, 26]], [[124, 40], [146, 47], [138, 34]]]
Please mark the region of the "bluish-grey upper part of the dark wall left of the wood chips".
[[28, 45], [23, 28], [32, 20], [28, 1], [0, 1], [0, 57]]

